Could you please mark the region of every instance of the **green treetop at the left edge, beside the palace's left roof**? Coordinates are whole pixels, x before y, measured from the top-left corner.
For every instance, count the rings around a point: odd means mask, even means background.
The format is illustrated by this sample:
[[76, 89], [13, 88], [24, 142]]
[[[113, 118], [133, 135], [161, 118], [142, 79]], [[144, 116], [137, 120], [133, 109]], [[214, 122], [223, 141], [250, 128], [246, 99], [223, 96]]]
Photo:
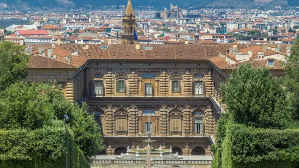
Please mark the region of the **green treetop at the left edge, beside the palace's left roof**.
[[30, 55], [24, 54], [23, 46], [13, 45], [12, 42], [0, 43], [0, 91], [10, 84], [27, 77]]

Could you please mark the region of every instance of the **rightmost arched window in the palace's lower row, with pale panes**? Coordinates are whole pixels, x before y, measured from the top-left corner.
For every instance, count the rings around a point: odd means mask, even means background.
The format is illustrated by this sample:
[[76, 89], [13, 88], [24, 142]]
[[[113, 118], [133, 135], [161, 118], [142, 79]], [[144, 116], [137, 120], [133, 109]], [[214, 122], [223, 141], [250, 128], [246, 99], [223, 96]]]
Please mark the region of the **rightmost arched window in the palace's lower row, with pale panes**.
[[202, 112], [194, 112], [192, 127], [193, 127], [193, 135], [203, 135], [204, 134], [204, 115]]

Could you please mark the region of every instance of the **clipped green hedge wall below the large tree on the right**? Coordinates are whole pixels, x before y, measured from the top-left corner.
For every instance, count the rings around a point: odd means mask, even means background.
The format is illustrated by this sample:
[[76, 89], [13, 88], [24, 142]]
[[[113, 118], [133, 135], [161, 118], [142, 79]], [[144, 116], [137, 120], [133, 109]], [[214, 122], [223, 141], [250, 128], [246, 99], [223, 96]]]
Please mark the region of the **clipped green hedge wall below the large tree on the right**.
[[222, 148], [222, 168], [299, 168], [299, 129], [228, 124]]

